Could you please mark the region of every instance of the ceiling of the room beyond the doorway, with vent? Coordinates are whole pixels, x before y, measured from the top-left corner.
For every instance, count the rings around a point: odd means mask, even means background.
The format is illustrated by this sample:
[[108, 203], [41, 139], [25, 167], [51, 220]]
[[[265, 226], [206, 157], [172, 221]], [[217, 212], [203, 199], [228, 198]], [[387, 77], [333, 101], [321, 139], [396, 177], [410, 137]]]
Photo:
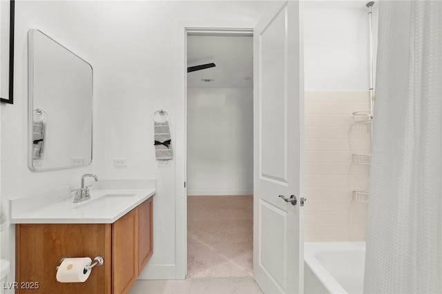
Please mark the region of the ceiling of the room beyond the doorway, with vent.
[[187, 86], [253, 88], [253, 37], [189, 35], [187, 66], [212, 62], [216, 65], [214, 68], [189, 72]]

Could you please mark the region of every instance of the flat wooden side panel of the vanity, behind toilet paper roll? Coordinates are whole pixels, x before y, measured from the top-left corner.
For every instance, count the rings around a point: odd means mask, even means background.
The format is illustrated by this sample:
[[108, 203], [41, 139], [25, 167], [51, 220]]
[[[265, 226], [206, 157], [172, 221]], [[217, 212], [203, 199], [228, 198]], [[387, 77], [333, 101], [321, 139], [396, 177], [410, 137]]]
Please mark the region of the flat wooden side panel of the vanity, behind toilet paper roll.
[[[5, 282], [0, 289], [16, 288], [17, 294], [111, 293], [111, 224], [17, 224], [15, 228], [18, 284], [8, 280], [9, 286]], [[55, 267], [64, 256], [102, 256], [104, 264], [93, 268], [84, 283], [60, 283]]]

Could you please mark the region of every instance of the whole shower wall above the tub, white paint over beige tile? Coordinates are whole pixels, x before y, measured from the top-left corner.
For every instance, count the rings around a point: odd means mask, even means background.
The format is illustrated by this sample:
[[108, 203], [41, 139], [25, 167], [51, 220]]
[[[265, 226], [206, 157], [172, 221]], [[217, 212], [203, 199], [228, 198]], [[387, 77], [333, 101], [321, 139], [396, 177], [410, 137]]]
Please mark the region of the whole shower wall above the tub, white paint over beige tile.
[[[370, 125], [352, 112], [369, 109], [368, 9], [365, 1], [313, 1], [305, 8], [306, 242], [365, 240], [369, 166], [352, 154], [370, 152]], [[377, 3], [373, 7], [374, 57]], [[374, 59], [376, 64], [376, 58]]]

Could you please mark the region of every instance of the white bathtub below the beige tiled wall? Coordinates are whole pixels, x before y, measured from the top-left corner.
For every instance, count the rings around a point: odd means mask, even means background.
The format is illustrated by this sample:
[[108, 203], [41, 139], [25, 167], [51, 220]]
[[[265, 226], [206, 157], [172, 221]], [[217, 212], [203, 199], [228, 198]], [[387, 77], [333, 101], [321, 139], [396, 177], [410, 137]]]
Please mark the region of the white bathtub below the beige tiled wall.
[[304, 292], [362, 293], [365, 243], [305, 243]]

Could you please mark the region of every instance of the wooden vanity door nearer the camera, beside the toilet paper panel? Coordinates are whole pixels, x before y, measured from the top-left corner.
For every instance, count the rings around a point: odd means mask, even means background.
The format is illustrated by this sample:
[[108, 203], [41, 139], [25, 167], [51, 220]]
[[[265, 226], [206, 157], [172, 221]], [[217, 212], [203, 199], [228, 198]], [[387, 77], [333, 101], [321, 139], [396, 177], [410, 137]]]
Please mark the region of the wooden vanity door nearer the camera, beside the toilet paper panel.
[[128, 293], [138, 277], [138, 208], [112, 224], [112, 293]]

